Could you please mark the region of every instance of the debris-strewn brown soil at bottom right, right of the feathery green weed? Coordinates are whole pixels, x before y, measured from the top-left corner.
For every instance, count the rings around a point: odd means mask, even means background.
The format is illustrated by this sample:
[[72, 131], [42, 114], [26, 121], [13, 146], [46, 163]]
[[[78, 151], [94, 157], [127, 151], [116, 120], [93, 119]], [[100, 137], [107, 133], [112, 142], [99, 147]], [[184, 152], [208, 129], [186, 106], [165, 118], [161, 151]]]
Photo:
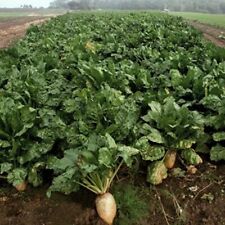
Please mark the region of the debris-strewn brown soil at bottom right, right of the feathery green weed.
[[[224, 225], [224, 169], [224, 165], [214, 167], [207, 164], [202, 166], [195, 175], [186, 175], [183, 178], [171, 177], [162, 186], [157, 187], [169, 223], [173, 225]], [[161, 220], [158, 218], [159, 221], [156, 222], [153, 219], [152, 223], [149, 221], [149, 224], [166, 224], [162, 207], [158, 206], [158, 210], [161, 211], [158, 214], [158, 216], [161, 214]]]

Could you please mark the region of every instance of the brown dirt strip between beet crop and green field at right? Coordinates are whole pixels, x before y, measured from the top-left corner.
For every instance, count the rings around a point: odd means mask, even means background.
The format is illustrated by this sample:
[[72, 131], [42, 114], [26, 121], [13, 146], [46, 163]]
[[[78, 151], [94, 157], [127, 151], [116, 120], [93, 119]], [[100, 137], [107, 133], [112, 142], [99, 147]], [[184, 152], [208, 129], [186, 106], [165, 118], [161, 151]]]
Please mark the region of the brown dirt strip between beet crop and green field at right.
[[190, 24], [200, 30], [204, 37], [213, 42], [215, 45], [224, 48], [225, 47], [225, 40], [219, 38], [220, 35], [223, 34], [225, 36], [225, 30], [221, 28], [216, 28], [207, 24], [199, 23], [196, 21], [190, 21]]

